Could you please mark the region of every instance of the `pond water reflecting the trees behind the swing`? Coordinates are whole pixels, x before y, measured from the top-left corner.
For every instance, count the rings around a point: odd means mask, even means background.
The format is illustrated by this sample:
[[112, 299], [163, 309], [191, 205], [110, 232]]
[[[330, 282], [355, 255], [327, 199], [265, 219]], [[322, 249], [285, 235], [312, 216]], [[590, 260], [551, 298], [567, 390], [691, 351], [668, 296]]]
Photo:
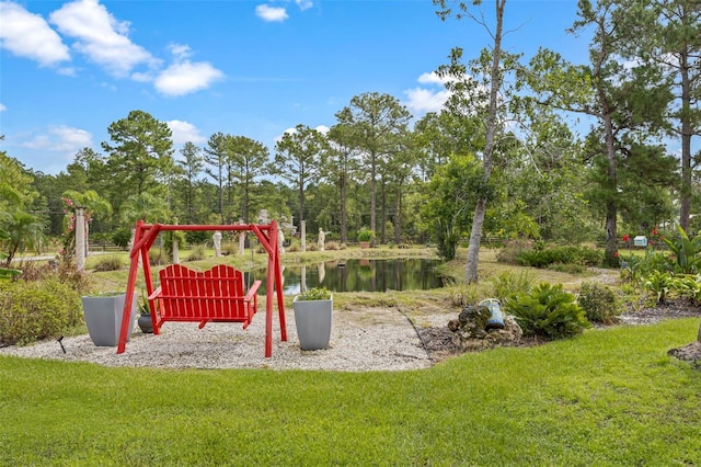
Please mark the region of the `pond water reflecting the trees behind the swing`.
[[[443, 287], [436, 272], [438, 260], [343, 260], [315, 265], [283, 266], [283, 293], [299, 294], [302, 288], [326, 287], [332, 292], [426, 291]], [[253, 273], [263, 280], [258, 294], [265, 294], [265, 270]]]

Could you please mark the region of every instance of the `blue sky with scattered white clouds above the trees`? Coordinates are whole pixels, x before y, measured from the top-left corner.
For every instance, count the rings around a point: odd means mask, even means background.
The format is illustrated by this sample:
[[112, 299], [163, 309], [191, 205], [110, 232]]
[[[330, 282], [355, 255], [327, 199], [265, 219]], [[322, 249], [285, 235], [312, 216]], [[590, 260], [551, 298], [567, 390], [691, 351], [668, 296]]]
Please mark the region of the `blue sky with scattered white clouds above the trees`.
[[[450, 49], [473, 58], [491, 42], [435, 10], [429, 0], [0, 0], [0, 148], [55, 174], [83, 147], [101, 152], [110, 124], [141, 110], [169, 124], [176, 150], [221, 132], [273, 152], [285, 130], [330, 127], [364, 92], [391, 94], [420, 118], [443, 104], [432, 72]], [[492, 10], [486, 0], [487, 21]], [[575, 13], [575, 0], [509, 0], [506, 49], [586, 60], [588, 37], [565, 33]]]

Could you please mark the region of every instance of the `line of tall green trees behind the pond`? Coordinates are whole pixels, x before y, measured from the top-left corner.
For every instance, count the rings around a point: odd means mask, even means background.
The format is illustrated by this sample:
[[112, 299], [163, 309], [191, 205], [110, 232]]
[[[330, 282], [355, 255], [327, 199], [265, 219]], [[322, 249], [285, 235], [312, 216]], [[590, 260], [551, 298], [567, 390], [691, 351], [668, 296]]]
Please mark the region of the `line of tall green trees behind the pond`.
[[91, 235], [113, 237], [136, 218], [256, 223], [266, 209], [340, 242], [369, 229], [377, 242], [430, 242], [452, 259], [467, 241], [469, 281], [485, 236], [601, 241], [618, 265], [622, 235], [698, 229], [701, 4], [581, 0], [571, 32], [591, 34], [589, 59], [573, 64], [547, 48], [528, 62], [506, 52], [507, 1], [490, 2], [493, 25], [480, 3], [434, 0], [440, 19], [475, 20], [493, 41], [471, 59], [456, 47], [436, 70], [449, 92], [440, 112], [414, 119], [399, 99], [367, 92], [327, 132], [299, 124], [272, 151], [216, 133], [175, 153], [168, 125], [135, 110], [110, 125], [101, 151], [80, 150], [57, 175], [2, 152], [0, 228], [60, 235], [67, 192], [101, 206]]

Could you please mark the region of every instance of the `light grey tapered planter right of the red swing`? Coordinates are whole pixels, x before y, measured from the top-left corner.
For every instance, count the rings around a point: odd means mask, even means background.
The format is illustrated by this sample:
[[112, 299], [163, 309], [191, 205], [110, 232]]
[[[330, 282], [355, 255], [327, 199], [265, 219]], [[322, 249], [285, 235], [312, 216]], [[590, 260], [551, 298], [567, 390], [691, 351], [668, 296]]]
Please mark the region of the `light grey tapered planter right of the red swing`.
[[295, 297], [295, 324], [302, 350], [329, 349], [333, 324], [333, 296], [327, 300], [298, 300]]

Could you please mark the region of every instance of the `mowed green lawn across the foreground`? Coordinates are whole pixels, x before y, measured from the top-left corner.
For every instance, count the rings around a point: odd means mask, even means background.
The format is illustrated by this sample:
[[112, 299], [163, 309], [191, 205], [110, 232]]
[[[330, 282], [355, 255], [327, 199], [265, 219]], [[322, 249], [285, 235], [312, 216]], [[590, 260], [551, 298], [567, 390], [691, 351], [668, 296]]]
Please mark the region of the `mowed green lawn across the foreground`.
[[0, 357], [0, 465], [701, 465], [699, 319], [398, 373]]

